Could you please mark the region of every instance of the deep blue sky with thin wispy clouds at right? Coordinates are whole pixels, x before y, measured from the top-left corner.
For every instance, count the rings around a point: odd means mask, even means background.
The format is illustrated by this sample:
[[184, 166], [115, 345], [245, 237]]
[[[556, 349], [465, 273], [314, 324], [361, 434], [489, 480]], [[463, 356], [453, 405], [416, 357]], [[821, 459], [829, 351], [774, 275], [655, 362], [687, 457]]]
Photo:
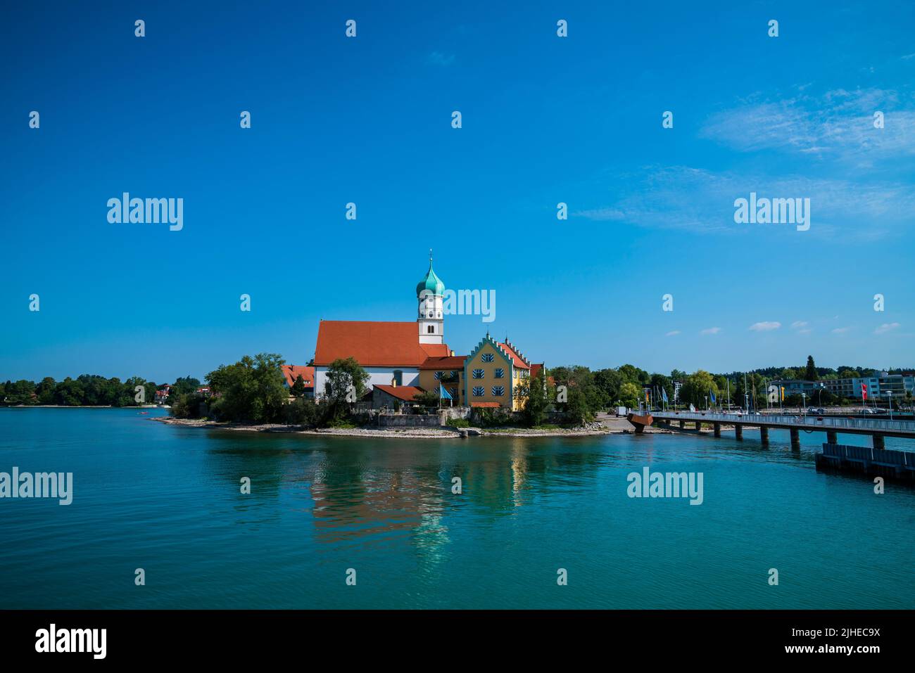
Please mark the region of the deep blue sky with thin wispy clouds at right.
[[[305, 364], [322, 317], [414, 319], [429, 248], [496, 292], [447, 317], [458, 353], [915, 365], [910, 3], [186, 5], [3, 21], [2, 379]], [[109, 223], [125, 191], [183, 230]], [[736, 224], [751, 191], [810, 230]]]

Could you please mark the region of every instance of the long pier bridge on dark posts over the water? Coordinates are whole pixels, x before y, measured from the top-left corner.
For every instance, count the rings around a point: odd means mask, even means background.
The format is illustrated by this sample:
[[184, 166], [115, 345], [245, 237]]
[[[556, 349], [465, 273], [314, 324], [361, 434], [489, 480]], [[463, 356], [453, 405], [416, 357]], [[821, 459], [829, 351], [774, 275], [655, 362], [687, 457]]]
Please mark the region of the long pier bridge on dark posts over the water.
[[782, 428], [791, 431], [791, 446], [801, 445], [801, 431], [826, 433], [827, 443], [836, 443], [838, 433], [869, 434], [875, 449], [884, 448], [884, 437], [906, 437], [915, 439], [915, 422], [887, 421], [882, 419], [843, 418], [834, 416], [792, 416], [774, 413], [718, 413], [716, 411], [652, 411], [655, 421], [669, 427], [680, 423], [685, 430], [686, 423], [695, 423], [695, 429], [702, 429], [703, 423], [711, 425], [715, 436], [721, 436], [722, 425], [733, 425], [737, 439], [743, 439], [745, 426], [759, 428], [763, 443], [769, 442], [769, 429]]

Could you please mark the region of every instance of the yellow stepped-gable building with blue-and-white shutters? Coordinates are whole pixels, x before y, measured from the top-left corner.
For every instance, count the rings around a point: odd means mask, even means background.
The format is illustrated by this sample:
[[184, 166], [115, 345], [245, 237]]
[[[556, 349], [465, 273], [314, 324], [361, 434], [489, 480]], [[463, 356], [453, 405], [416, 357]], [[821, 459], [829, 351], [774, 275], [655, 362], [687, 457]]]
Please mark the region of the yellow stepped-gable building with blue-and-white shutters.
[[504, 343], [489, 334], [464, 362], [464, 400], [471, 407], [524, 407], [531, 363], [508, 338]]

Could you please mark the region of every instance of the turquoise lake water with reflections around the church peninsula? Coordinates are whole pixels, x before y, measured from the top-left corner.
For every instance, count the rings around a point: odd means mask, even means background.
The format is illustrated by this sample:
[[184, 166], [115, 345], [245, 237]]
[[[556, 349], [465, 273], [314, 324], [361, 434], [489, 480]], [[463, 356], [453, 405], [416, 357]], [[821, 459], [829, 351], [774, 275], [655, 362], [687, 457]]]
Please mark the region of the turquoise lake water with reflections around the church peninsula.
[[[364, 440], [149, 417], [0, 409], [0, 472], [74, 481], [70, 506], [0, 499], [0, 608], [915, 607], [915, 489], [816, 472], [820, 433], [792, 453], [775, 431]], [[703, 504], [628, 497], [646, 465], [702, 473]]]

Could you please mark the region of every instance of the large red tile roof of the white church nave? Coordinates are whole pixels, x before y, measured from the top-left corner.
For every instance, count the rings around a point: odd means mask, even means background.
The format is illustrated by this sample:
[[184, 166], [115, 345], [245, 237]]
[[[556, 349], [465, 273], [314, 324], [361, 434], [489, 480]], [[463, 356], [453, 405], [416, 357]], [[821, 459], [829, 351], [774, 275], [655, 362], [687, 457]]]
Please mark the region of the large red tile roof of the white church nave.
[[322, 320], [315, 364], [327, 367], [338, 358], [356, 358], [362, 367], [419, 367], [426, 358], [450, 353], [447, 344], [419, 343], [416, 323]]

